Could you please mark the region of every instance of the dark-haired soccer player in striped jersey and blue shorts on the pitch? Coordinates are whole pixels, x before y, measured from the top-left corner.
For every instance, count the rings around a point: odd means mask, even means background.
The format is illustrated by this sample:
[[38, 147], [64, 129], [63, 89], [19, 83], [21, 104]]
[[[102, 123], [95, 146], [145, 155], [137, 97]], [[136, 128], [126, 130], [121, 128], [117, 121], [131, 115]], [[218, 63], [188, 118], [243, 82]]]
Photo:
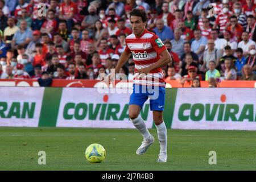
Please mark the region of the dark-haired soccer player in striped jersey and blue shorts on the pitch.
[[144, 102], [150, 98], [150, 110], [153, 111], [160, 142], [158, 162], [166, 162], [167, 130], [163, 122], [165, 82], [162, 67], [170, 63], [172, 58], [158, 36], [146, 30], [147, 15], [144, 10], [133, 9], [130, 13], [130, 22], [133, 33], [126, 37], [126, 48], [115, 67], [115, 73], [118, 73], [130, 55], [133, 55], [135, 74], [138, 76], [134, 78], [133, 93], [130, 96], [129, 117], [144, 138], [136, 153], [144, 154], [154, 143], [153, 136], [139, 115]]

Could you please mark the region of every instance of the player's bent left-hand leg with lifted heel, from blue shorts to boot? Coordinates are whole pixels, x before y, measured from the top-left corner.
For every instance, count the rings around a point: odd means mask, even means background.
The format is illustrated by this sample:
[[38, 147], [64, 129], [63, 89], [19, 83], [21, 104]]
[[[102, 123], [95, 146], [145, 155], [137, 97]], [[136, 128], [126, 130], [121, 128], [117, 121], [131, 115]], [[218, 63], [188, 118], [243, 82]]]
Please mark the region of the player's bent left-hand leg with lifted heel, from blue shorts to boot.
[[144, 105], [144, 102], [147, 101], [148, 96], [144, 93], [137, 93], [137, 89], [140, 87], [139, 85], [134, 85], [133, 87], [133, 93], [131, 93], [130, 101], [129, 101], [129, 117], [130, 121], [133, 122], [133, 125], [137, 128], [137, 130], [142, 134], [143, 136], [143, 142], [141, 146], [136, 151], [136, 154], [141, 155], [146, 152], [147, 148], [154, 143], [154, 138], [147, 130], [147, 127], [145, 125], [145, 122], [141, 118], [141, 115], [139, 115], [141, 108]]

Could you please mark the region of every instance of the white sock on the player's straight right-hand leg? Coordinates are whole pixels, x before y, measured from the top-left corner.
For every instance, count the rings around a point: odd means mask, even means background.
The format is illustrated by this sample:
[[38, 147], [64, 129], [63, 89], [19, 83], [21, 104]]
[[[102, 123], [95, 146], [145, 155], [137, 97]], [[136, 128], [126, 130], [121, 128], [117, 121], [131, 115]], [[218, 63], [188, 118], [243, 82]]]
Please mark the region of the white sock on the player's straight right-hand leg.
[[162, 122], [160, 125], [155, 125], [158, 130], [158, 139], [160, 143], [160, 153], [164, 152], [167, 154], [167, 130], [166, 124]]

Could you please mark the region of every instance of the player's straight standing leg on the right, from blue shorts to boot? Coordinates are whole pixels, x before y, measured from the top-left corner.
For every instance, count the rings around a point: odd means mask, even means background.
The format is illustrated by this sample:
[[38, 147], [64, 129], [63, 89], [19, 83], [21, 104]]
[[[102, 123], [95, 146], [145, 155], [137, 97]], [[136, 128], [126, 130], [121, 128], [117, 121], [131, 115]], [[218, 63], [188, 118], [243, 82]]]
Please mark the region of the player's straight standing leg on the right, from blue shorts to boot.
[[155, 88], [154, 94], [156, 97], [150, 96], [150, 109], [153, 111], [153, 119], [158, 131], [158, 139], [160, 143], [160, 154], [158, 162], [167, 161], [167, 130], [163, 121], [165, 88]]

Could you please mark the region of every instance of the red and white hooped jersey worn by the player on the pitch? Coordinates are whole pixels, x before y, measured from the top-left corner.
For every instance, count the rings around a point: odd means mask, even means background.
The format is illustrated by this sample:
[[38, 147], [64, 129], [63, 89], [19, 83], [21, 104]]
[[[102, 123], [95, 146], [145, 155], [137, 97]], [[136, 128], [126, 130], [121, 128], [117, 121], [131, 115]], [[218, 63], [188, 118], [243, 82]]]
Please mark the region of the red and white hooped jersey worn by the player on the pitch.
[[[160, 59], [160, 53], [166, 50], [166, 47], [154, 33], [144, 30], [141, 36], [130, 34], [126, 37], [127, 53], [133, 55], [135, 71], [142, 68], [150, 67]], [[147, 76], [138, 77], [135, 75], [134, 84], [165, 86], [162, 68], [153, 69]]]

